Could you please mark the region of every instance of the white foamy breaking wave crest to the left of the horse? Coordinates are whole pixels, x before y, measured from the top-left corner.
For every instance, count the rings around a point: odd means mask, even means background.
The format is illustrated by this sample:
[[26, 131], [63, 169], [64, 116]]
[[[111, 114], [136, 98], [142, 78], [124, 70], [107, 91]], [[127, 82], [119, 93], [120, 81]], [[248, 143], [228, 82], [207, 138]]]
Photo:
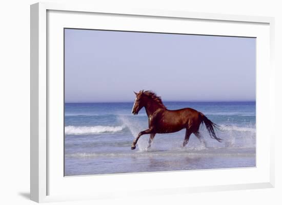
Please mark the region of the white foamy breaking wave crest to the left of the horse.
[[99, 134], [105, 132], [119, 132], [124, 126], [66, 126], [65, 134]]

